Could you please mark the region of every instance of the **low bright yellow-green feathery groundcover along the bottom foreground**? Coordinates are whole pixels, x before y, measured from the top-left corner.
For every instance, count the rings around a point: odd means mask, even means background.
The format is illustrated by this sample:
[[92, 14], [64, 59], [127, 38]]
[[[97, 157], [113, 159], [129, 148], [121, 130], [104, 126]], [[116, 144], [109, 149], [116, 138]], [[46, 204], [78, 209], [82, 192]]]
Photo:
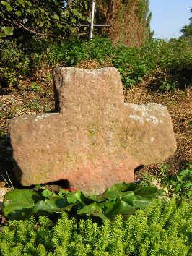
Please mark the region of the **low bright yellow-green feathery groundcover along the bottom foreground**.
[[191, 255], [191, 203], [154, 200], [123, 222], [77, 221], [62, 213], [9, 221], [0, 231], [0, 255]]

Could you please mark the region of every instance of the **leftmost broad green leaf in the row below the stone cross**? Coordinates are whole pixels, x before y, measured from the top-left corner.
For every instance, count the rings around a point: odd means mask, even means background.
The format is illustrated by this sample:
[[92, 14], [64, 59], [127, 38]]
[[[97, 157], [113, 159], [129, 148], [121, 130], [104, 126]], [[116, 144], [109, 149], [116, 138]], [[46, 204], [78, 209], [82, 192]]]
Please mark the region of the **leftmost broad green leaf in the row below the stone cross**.
[[32, 196], [37, 196], [30, 189], [14, 189], [4, 196], [4, 214], [9, 218], [19, 219], [25, 209], [32, 209], [34, 201]]

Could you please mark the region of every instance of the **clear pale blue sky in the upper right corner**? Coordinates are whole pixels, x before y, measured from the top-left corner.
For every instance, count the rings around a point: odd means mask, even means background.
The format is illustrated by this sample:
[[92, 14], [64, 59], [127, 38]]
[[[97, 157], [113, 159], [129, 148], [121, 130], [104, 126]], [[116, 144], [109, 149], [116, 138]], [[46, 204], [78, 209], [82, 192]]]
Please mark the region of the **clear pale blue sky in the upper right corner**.
[[154, 38], [178, 38], [184, 25], [189, 24], [192, 16], [190, 8], [191, 0], [149, 0], [149, 8], [152, 11], [151, 30], [154, 30]]

